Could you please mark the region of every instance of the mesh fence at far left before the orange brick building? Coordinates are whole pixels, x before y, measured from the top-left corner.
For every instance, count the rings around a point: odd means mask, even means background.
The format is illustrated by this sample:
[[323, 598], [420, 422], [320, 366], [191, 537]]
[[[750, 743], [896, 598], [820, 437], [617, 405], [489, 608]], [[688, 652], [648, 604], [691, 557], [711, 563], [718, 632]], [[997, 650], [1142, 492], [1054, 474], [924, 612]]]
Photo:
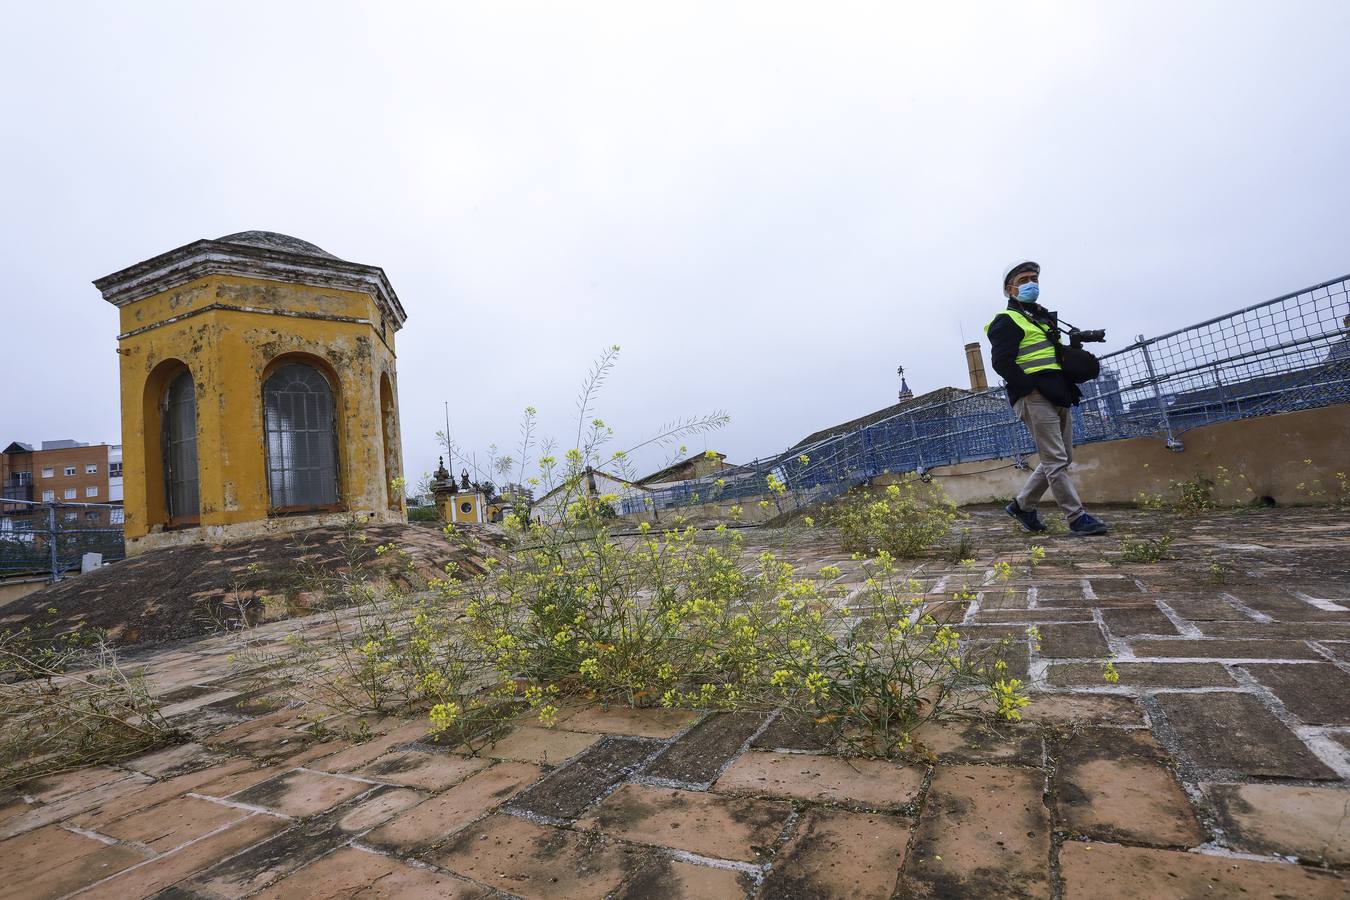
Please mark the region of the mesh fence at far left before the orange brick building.
[[126, 557], [123, 510], [116, 503], [0, 503], [0, 576], [78, 571], [85, 553]]

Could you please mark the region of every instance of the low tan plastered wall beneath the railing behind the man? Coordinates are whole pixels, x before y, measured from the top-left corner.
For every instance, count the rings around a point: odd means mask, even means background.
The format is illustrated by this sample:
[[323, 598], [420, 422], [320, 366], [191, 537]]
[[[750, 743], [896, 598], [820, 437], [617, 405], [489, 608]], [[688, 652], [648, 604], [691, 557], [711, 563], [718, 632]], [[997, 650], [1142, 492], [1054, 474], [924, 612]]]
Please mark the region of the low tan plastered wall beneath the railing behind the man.
[[[1180, 452], [1169, 451], [1160, 437], [1075, 448], [1071, 471], [1083, 501], [1131, 503], [1141, 491], [1166, 495], [1172, 482], [1215, 479], [1224, 467], [1230, 480], [1215, 484], [1215, 501], [1268, 497], [1281, 506], [1296, 506], [1326, 502], [1326, 497], [1314, 495], [1315, 483], [1335, 495], [1336, 472], [1350, 474], [1350, 403], [1203, 425], [1179, 437], [1185, 445]], [[1027, 463], [1034, 467], [1035, 456]], [[1006, 459], [938, 466], [930, 474], [959, 505], [1006, 501], [1027, 476]], [[909, 476], [886, 475], [873, 484], [903, 478]], [[1050, 502], [1049, 495], [1045, 502]]]

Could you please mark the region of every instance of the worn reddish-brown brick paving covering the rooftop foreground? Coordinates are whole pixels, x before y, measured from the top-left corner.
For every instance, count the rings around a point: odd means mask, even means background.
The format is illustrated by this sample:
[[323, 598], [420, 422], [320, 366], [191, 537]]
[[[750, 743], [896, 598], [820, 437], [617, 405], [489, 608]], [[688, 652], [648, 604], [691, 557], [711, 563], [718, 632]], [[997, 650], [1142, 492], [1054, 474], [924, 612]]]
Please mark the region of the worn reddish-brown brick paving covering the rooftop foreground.
[[[1350, 519], [1108, 518], [1029, 568], [976, 511], [976, 584], [921, 568], [964, 640], [1018, 640], [1035, 695], [896, 761], [782, 716], [594, 706], [474, 757], [397, 718], [354, 743], [247, 694], [227, 637], [144, 652], [196, 739], [0, 795], [0, 899], [1350, 896]], [[1122, 559], [1164, 522], [1172, 559]], [[790, 553], [863, 578], [826, 534]]]

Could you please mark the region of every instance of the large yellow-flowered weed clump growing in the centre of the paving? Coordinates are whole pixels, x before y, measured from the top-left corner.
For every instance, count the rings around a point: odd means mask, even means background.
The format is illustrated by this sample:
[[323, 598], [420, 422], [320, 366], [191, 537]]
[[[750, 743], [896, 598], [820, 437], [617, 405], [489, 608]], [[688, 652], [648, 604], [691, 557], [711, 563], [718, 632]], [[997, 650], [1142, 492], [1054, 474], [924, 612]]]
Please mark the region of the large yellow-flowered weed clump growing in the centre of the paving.
[[[589, 397], [578, 407], [589, 414]], [[598, 453], [610, 430], [593, 424], [585, 434], [560, 459], [540, 459], [549, 514], [508, 517], [512, 552], [493, 553], [474, 578], [433, 584], [440, 607], [463, 611], [495, 680], [525, 700], [544, 710], [563, 696], [782, 706], [872, 753], [896, 752], [923, 722], [963, 710], [992, 704], [1019, 715], [1025, 690], [1007, 677], [999, 645], [964, 646], [896, 567], [899, 553], [946, 536], [956, 510], [940, 490], [892, 486], [840, 505], [836, 524], [867, 573], [848, 594], [824, 587], [838, 578], [834, 567], [817, 579], [774, 551], [747, 559], [742, 533], [726, 526], [701, 533], [676, 519], [613, 534], [601, 513], [613, 498], [587, 488], [593, 467], [613, 463]], [[778, 476], [767, 486], [772, 506], [787, 487]], [[477, 540], [460, 529], [451, 536]], [[996, 571], [1011, 575], [1010, 565]], [[437, 706], [432, 722], [448, 727], [458, 712]]]

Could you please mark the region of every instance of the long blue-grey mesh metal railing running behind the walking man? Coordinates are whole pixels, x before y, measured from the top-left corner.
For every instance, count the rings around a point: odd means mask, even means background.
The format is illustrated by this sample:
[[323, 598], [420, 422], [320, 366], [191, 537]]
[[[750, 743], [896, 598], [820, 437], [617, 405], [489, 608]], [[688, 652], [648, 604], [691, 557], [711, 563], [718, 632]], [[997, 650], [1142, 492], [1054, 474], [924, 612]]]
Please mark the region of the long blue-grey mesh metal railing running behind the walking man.
[[[1350, 275], [1145, 339], [1102, 356], [1073, 407], [1076, 444], [1158, 436], [1350, 401]], [[1002, 387], [910, 407], [799, 444], [720, 475], [632, 493], [625, 515], [763, 498], [774, 475], [803, 501], [828, 499], [884, 474], [1014, 459], [1035, 451]]]

